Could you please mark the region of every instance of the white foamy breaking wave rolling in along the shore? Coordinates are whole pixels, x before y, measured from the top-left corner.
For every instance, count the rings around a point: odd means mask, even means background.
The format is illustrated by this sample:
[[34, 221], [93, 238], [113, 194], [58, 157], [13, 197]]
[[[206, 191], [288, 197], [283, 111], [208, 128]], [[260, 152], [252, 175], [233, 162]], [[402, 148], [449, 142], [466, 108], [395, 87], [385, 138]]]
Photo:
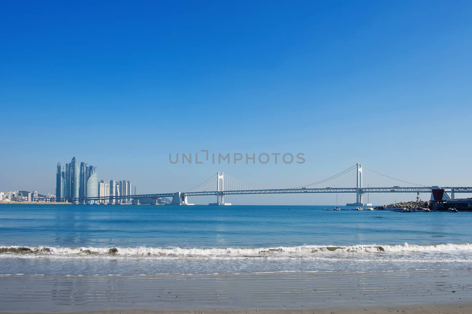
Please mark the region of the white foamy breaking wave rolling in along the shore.
[[[95, 257], [95, 258], [155, 258], [155, 259], [241, 259], [267, 258], [324, 259], [326, 257], [350, 258], [350, 256], [417, 255], [419, 253], [472, 252], [472, 244], [415, 245], [351, 245], [316, 246], [303, 245], [271, 248], [154, 248], [154, 247], [49, 247], [49, 246], [0, 246], [0, 257]], [[365, 256], [367, 255], [367, 256]], [[386, 256], [387, 257], [387, 256]], [[465, 259], [464, 259], [465, 260]], [[467, 259], [468, 260], [468, 259]]]

